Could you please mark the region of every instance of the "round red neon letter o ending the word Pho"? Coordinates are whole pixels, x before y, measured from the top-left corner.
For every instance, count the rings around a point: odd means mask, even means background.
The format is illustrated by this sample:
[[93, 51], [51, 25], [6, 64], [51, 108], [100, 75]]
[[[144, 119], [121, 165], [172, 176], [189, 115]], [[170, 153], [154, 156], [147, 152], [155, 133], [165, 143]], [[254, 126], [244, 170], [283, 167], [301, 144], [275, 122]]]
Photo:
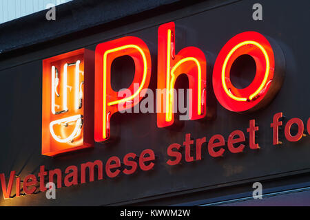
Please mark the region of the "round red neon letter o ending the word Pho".
[[[249, 86], [238, 89], [231, 83], [231, 66], [238, 57], [245, 54], [254, 59], [256, 76]], [[216, 98], [230, 111], [245, 112], [259, 109], [280, 89], [284, 67], [282, 51], [272, 39], [267, 40], [258, 32], [238, 34], [224, 45], [216, 59], [213, 73]]]

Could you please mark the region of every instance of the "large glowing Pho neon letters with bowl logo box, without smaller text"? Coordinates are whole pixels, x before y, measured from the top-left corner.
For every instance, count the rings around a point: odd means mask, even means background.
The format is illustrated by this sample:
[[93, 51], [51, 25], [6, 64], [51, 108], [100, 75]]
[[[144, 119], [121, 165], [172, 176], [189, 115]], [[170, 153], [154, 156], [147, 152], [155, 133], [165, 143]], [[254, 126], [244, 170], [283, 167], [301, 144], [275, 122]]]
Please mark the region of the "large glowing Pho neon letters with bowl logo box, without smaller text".
[[[157, 126], [160, 128], [174, 124], [174, 87], [181, 74], [187, 76], [192, 91], [187, 107], [189, 120], [205, 118], [208, 111], [207, 89], [211, 88], [207, 88], [207, 74], [211, 73], [207, 73], [207, 58], [197, 47], [185, 47], [176, 52], [177, 37], [173, 22], [158, 28], [157, 89], [163, 91], [163, 96], [157, 96], [156, 100]], [[92, 131], [85, 129], [86, 124], [92, 123], [85, 114], [93, 114], [91, 107], [88, 112], [84, 107], [84, 100], [91, 96], [93, 88], [92, 80], [87, 82], [88, 74], [95, 72], [95, 120], [92, 126], [96, 142], [104, 142], [113, 136], [110, 129], [112, 115], [138, 104], [149, 86], [151, 55], [143, 40], [125, 36], [100, 43], [96, 47], [95, 61], [88, 67], [85, 65], [86, 52], [78, 50], [43, 61], [43, 155], [52, 156], [92, 145]], [[249, 86], [238, 89], [231, 83], [231, 66], [245, 54], [254, 59], [256, 74]], [[135, 72], [134, 80], [127, 88], [130, 95], [120, 98], [112, 89], [111, 67], [116, 58], [125, 55], [133, 59]], [[94, 65], [94, 71], [91, 65]], [[258, 32], [237, 34], [224, 45], [216, 59], [212, 76], [214, 94], [230, 111], [254, 111], [276, 95], [282, 85], [284, 66], [284, 56], [273, 40], [267, 40]]]

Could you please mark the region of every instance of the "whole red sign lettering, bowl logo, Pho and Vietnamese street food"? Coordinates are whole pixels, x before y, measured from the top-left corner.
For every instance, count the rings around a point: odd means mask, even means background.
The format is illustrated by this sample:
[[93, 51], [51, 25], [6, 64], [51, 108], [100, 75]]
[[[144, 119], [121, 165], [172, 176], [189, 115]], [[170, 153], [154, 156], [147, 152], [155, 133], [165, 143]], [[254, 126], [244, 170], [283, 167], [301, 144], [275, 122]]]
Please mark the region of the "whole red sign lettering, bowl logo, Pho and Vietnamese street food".
[[[192, 89], [187, 106], [189, 120], [207, 117], [207, 91], [212, 89], [212, 85], [218, 102], [236, 113], [255, 111], [265, 106], [282, 86], [284, 56], [276, 42], [267, 36], [258, 32], [243, 32], [223, 43], [213, 73], [207, 72], [207, 63], [211, 62], [198, 47], [188, 45], [177, 52], [177, 38], [173, 22], [158, 28], [156, 73], [152, 73], [152, 57], [147, 44], [135, 36], [99, 43], [95, 52], [81, 49], [43, 60], [42, 154], [59, 155], [89, 148], [94, 141], [109, 140], [114, 135], [110, 129], [112, 115], [142, 102], [152, 74], [157, 79], [157, 89], [163, 91], [163, 96], [156, 97], [158, 128], [175, 124], [174, 106], [177, 100], [174, 89], [181, 74], [185, 74], [189, 89]], [[231, 82], [231, 68], [243, 55], [251, 56], [255, 61], [256, 72], [252, 82], [240, 89]], [[135, 71], [131, 85], [125, 89], [130, 95], [120, 97], [119, 92], [112, 89], [112, 63], [121, 56], [132, 58]], [[212, 76], [212, 82], [207, 82], [207, 74]], [[203, 159], [203, 153], [211, 157], [223, 157], [225, 151], [242, 153], [247, 141], [248, 148], [257, 151], [261, 147], [256, 137], [260, 128], [254, 119], [247, 122], [245, 131], [235, 129], [229, 135], [215, 133], [197, 138], [194, 137], [196, 133], [185, 133], [183, 143], [176, 141], [167, 145], [165, 165], [192, 163]], [[276, 113], [268, 124], [273, 133], [273, 145], [282, 144], [282, 140], [298, 142], [306, 135], [306, 130], [309, 134], [310, 119], [307, 126], [304, 125], [300, 118], [286, 121], [282, 112]], [[280, 136], [280, 128], [284, 137]], [[63, 170], [45, 170], [45, 166], [41, 165], [37, 176], [31, 174], [23, 179], [11, 171], [8, 183], [1, 173], [0, 181], [3, 197], [8, 199], [14, 188], [15, 197], [21, 195], [21, 188], [25, 195], [39, 190], [44, 192], [47, 190], [47, 179], [50, 182], [56, 179], [57, 188], [69, 187], [85, 184], [87, 179], [102, 180], [122, 174], [132, 175], [136, 170], [152, 170], [155, 164], [156, 154], [147, 148], [140, 155], [132, 152], [121, 157], [109, 155], [104, 162], [96, 159], [94, 162], [83, 162], [80, 167], [66, 166]]]

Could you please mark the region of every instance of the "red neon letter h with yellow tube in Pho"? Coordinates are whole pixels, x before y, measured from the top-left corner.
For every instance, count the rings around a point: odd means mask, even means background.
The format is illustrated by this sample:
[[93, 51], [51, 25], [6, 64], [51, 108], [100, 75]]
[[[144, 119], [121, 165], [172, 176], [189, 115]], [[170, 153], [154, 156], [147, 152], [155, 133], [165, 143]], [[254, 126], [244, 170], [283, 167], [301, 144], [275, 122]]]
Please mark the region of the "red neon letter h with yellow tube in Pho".
[[180, 74], [186, 74], [189, 80], [189, 120], [204, 118], [206, 106], [205, 54], [197, 47], [185, 47], [175, 54], [175, 25], [165, 23], [158, 28], [158, 78], [157, 84], [163, 96], [157, 97], [157, 126], [174, 124], [174, 84]]

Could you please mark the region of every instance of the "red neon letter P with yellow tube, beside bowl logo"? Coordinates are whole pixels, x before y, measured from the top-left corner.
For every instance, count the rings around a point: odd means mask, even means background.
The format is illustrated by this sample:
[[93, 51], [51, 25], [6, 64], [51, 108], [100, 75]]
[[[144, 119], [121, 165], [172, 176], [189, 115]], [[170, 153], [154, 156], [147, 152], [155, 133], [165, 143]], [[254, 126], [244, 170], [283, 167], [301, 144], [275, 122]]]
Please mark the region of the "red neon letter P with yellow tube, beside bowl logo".
[[[127, 88], [130, 96], [119, 98], [118, 92], [114, 91], [111, 85], [111, 65], [116, 58], [125, 55], [134, 60], [135, 73], [132, 85]], [[111, 116], [134, 107], [145, 95], [151, 77], [151, 55], [141, 39], [125, 36], [97, 45], [95, 57], [94, 139], [96, 142], [103, 142], [110, 137]]]

